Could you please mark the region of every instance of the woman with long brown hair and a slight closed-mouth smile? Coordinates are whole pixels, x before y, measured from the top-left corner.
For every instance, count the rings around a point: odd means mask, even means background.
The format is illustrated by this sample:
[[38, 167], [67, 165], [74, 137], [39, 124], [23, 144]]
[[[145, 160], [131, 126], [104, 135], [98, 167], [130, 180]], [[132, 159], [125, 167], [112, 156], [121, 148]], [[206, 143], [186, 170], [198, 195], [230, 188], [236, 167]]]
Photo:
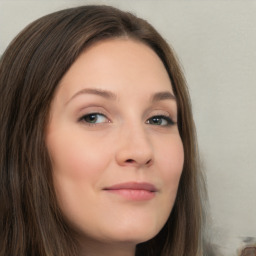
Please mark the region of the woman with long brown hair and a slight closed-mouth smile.
[[205, 255], [186, 83], [146, 21], [47, 15], [0, 63], [0, 255]]

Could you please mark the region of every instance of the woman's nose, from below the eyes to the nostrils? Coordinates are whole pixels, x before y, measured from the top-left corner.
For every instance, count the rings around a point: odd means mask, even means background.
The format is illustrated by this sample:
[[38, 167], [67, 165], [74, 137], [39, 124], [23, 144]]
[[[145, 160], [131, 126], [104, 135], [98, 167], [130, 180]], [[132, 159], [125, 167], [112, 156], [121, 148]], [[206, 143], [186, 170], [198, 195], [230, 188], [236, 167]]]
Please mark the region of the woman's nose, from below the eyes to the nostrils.
[[121, 166], [149, 167], [153, 145], [143, 127], [126, 127], [119, 135], [116, 161]]

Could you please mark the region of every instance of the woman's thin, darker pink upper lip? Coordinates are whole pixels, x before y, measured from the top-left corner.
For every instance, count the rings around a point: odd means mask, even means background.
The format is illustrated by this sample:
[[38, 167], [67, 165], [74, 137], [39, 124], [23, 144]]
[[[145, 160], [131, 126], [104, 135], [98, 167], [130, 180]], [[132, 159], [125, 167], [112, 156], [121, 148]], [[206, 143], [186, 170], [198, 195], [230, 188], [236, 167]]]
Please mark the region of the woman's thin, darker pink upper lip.
[[104, 190], [121, 190], [121, 189], [130, 189], [130, 190], [146, 190], [150, 192], [156, 192], [157, 188], [147, 182], [126, 182], [115, 184], [110, 187], [104, 188]]

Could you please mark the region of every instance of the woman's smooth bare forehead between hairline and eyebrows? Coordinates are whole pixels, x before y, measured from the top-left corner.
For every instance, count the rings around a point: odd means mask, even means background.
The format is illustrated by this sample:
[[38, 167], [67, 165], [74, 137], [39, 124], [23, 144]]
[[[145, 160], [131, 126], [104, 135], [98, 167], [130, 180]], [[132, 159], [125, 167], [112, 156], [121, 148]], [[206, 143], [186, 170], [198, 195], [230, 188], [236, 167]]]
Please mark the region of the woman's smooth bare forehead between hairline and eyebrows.
[[[168, 73], [146, 44], [127, 38], [108, 39], [87, 48], [60, 82], [66, 97], [87, 87], [115, 93], [172, 92]], [[124, 91], [125, 89], [125, 91]]]

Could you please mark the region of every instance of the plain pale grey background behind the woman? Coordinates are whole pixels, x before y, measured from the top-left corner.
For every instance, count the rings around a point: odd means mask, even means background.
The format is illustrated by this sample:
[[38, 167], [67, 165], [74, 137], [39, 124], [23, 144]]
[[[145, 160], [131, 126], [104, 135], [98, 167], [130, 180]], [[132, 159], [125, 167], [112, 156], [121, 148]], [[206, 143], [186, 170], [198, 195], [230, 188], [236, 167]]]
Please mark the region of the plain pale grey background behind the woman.
[[256, 1], [0, 0], [0, 53], [34, 19], [88, 3], [144, 17], [176, 50], [207, 175], [210, 233], [224, 255], [237, 255], [256, 237]]

